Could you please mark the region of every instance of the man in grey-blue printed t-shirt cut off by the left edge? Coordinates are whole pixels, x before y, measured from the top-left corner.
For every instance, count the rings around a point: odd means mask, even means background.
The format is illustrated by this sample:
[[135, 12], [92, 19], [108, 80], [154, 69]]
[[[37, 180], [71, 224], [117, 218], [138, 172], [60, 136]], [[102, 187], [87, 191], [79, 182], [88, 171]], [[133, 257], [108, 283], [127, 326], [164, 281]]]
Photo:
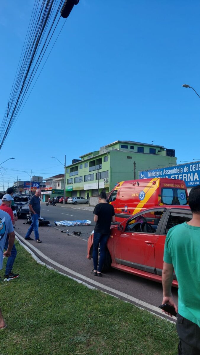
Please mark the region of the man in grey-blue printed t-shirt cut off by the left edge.
[[[7, 247], [7, 250], [4, 252], [4, 245], [8, 234], [9, 234], [9, 245]], [[10, 215], [7, 212], [0, 210], [0, 269], [2, 269], [3, 266], [3, 257], [10, 257], [14, 241], [15, 241], [15, 232], [13, 229]], [[11, 299], [9, 302], [11, 302]], [[2, 317], [2, 313], [0, 309], [0, 331], [2, 329], [5, 329], [6, 327], [7, 325], [4, 321], [4, 318]]]

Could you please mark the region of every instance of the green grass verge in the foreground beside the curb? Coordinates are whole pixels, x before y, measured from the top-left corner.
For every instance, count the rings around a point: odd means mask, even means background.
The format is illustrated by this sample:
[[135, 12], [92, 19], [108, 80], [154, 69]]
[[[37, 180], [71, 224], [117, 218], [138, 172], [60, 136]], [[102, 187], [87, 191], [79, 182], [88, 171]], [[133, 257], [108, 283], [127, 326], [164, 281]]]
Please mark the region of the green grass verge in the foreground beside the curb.
[[90, 290], [37, 264], [18, 243], [16, 247], [14, 271], [20, 277], [0, 282], [0, 306], [8, 324], [0, 333], [0, 355], [177, 354], [174, 324]]

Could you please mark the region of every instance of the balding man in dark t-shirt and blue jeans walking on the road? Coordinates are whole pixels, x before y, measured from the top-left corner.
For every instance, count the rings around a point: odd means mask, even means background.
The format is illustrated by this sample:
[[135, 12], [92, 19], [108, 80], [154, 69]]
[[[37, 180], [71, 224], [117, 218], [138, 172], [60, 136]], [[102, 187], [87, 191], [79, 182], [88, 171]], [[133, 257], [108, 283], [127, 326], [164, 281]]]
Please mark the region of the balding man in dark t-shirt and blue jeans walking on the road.
[[40, 215], [40, 200], [39, 200], [40, 195], [41, 195], [41, 190], [37, 189], [35, 195], [32, 196], [29, 200], [29, 210], [30, 210], [30, 215], [32, 217], [32, 223], [25, 236], [25, 240], [33, 240], [33, 238], [31, 238], [30, 235], [34, 230], [35, 240], [37, 243], [42, 243], [41, 240], [39, 240], [39, 233], [38, 233], [38, 217]]

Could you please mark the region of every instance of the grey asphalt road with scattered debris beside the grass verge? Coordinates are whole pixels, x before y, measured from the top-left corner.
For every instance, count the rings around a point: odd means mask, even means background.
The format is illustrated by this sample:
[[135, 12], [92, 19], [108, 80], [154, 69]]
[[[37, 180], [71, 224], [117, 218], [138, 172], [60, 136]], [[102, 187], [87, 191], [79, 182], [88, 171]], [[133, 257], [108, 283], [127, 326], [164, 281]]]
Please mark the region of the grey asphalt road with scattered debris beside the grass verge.
[[[109, 288], [118, 290], [120, 293], [125, 293], [132, 297], [135, 297], [142, 302], [146, 302], [152, 306], [158, 307], [162, 303], [162, 285], [160, 283], [152, 282], [128, 273], [118, 271], [116, 269], [111, 269], [108, 273], [103, 274], [102, 278], [94, 277], [91, 274], [93, 269], [92, 260], [86, 258], [87, 255], [87, 239], [91, 231], [94, 228], [93, 213], [89, 209], [90, 207], [84, 206], [69, 206], [63, 207], [57, 206], [46, 206], [44, 203], [41, 204], [41, 215], [42, 217], [48, 219], [52, 226], [45, 226], [39, 228], [41, 244], [36, 244], [36, 242], [30, 241], [27, 243], [30, 248], [37, 248], [33, 250], [34, 253], [40, 258], [40, 260], [48, 263], [50, 266], [58, 269], [65, 274], [74, 277], [72, 273], [79, 273], [83, 277], [76, 276], [77, 279], [84, 281], [84, 277], [87, 279], [87, 284], [95, 286], [96, 288], [103, 289], [106, 285]], [[91, 209], [91, 208], [90, 208]], [[92, 221], [90, 226], [81, 227], [56, 227], [54, 221], [61, 220], [76, 220], [76, 219], [89, 219]], [[19, 219], [16, 223], [16, 232], [22, 237], [25, 236], [27, 228], [29, 225], [23, 224], [25, 220]], [[69, 230], [70, 235], [66, 233], [61, 233], [61, 230]], [[81, 231], [80, 236], [74, 236], [73, 231]], [[31, 235], [34, 237], [33, 233]], [[33, 246], [33, 247], [32, 247]], [[37, 250], [42, 252], [45, 256], [49, 257], [56, 263], [61, 264], [69, 270], [63, 270], [59, 266], [55, 266], [50, 261], [47, 262], [45, 257], [39, 255]], [[16, 270], [17, 272], [17, 270]], [[94, 285], [92, 282], [98, 282], [99, 285]], [[102, 285], [102, 287], [101, 287]], [[112, 291], [109, 293], [112, 294]], [[113, 293], [114, 294], [114, 293]], [[116, 295], [116, 293], [115, 293]], [[177, 289], [173, 288], [173, 295], [175, 300], [178, 301]], [[123, 295], [120, 296], [122, 299], [128, 300], [128, 298]], [[131, 300], [129, 300], [131, 301]], [[132, 301], [131, 301], [132, 302]], [[133, 302], [134, 303], [134, 302]], [[137, 302], [136, 302], [137, 303]], [[151, 307], [148, 307], [151, 308]], [[153, 308], [153, 307], [152, 307]], [[152, 309], [155, 312], [155, 308]]]

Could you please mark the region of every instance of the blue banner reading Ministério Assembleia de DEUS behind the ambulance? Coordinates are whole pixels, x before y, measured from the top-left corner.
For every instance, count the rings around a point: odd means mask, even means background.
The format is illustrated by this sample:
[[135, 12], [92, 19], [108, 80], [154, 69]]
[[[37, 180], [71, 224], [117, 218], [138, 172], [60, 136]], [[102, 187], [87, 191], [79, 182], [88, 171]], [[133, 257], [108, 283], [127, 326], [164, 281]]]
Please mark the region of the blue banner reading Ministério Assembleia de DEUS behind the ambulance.
[[139, 179], [169, 178], [185, 181], [187, 187], [200, 185], [200, 161], [139, 172]]

